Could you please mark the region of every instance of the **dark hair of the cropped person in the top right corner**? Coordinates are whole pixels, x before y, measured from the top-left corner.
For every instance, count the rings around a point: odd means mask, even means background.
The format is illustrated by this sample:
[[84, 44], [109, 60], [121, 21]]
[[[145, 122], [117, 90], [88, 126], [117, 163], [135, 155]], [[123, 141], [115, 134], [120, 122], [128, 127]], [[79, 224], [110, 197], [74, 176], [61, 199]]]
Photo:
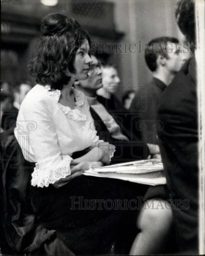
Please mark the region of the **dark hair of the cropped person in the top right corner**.
[[191, 44], [193, 51], [196, 44], [195, 0], [180, 0], [177, 2], [175, 17], [178, 27]]

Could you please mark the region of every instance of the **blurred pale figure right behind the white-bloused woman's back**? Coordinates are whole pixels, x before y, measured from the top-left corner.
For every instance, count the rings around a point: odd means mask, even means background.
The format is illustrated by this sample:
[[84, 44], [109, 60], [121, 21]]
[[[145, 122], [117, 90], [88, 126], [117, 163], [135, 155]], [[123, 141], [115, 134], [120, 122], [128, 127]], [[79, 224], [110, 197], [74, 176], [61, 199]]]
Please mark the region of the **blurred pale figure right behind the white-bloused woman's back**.
[[12, 88], [13, 95], [14, 95], [14, 102], [13, 105], [16, 109], [19, 110], [20, 104], [25, 98], [25, 95], [32, 89], [32, 86], [29, 82], [19, 83]]

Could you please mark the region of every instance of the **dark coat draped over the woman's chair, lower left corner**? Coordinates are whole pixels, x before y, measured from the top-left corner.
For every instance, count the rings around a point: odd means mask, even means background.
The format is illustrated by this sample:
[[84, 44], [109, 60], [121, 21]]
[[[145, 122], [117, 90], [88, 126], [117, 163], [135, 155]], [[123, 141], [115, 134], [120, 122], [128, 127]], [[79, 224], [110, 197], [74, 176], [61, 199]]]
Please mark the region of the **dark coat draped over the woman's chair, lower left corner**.
[[24, 160], [11, 129], [1, 133], [1, 250], [2, 253], [74, 255], [56, 237], [56, 230], [37, 225], [30, 200], [35, 164]]

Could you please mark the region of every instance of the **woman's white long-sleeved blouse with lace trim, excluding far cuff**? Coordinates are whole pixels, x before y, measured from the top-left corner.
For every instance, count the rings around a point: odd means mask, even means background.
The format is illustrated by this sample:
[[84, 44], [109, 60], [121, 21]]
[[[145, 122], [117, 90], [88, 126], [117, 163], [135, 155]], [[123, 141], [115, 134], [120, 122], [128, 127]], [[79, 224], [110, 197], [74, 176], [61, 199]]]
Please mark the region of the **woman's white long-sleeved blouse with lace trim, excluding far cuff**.
[[47, 187], [70, 175], [72, 154], [98, 142], [86, 97], [72, 90], [73, 110], [58, 102], [60, 90], [50, 91], [39, 84], [20, 106], [14, 133], [24, 158], [36, 163], [33, 186]]

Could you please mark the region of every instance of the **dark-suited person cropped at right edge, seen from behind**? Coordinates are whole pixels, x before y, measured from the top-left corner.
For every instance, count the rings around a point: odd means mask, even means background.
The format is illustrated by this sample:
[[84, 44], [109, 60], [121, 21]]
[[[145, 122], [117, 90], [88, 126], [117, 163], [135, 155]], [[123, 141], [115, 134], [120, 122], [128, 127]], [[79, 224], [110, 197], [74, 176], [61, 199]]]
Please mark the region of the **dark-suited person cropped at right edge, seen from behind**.
[[[195, 48], [195, 1], [178, 2], [175, 16], [178, 27]], [[170, 197], [175, 204], [173, 220], [180, 249], [198, 254], [198, 122], [196, 59], [188, 60], [162, 95], [158, 120], [160, 150]]]

